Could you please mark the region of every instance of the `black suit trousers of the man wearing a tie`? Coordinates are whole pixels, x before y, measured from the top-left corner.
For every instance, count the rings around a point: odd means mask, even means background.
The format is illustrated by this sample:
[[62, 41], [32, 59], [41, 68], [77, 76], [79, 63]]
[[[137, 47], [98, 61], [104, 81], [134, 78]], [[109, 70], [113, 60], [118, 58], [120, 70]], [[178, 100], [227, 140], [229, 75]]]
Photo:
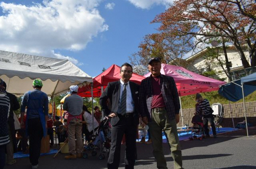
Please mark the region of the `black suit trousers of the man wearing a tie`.
[[137, 125], [133, 117], [118, 115], [119, 122], [111, 129], [111, 147], [108, 157], [108, 169], [118, 169], [120, 163], [120, 149], [123, 135], [126, 138], [125, 169], [134, 169], [136, 159]]

